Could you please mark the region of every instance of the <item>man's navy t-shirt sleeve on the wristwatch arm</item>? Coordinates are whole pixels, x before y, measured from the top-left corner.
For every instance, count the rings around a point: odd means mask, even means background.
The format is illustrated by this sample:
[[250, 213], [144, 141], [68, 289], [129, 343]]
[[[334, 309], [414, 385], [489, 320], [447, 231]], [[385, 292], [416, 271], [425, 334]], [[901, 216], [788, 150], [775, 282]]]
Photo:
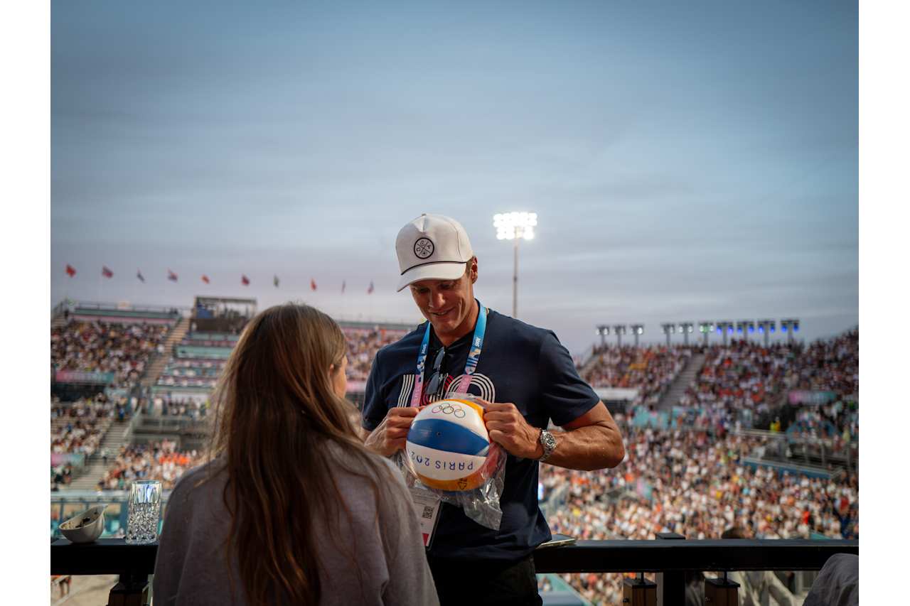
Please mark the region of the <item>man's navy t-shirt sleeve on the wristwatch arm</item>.
[[552, 331], [547, 332], [541, 343], [537, 376], [541, 381], [541, 404], [556, 425], [571, 423], [601, 400], [579, 377], [569, 350]]

